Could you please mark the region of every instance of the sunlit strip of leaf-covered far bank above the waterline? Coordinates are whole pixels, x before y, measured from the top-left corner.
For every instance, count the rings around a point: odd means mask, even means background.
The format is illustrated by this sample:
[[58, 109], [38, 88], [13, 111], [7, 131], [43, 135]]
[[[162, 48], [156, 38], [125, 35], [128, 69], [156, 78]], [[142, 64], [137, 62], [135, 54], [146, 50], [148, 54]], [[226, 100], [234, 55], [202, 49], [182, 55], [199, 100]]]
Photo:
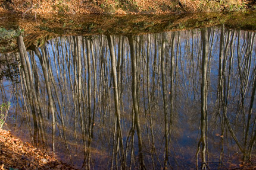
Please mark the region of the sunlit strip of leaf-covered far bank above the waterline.
[[0, 0], [0, 12], [22, 14], [179, 14], [255, 10], [254, 0]]

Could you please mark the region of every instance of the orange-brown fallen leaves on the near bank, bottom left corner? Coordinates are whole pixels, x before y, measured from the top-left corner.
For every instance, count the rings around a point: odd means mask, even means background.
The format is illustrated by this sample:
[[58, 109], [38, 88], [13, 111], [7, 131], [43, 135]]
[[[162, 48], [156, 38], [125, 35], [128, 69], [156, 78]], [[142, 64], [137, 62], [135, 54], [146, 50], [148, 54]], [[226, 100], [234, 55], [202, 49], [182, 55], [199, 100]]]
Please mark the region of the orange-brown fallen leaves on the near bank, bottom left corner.
[[76, 169], [0, 128], [0, 169]]

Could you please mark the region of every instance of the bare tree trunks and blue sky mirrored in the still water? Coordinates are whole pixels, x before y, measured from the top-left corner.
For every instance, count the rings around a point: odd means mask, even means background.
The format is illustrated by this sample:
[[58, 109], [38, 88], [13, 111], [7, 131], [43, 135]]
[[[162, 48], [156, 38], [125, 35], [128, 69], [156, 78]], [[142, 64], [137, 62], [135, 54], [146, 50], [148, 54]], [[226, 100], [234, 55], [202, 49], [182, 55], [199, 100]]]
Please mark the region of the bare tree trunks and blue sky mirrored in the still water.
[[86, 169], [216, 168], [236, 152], [252, 161], [255, 33], [70, 36], [28, 53], [17, 40], [13, 102], [35, 145]]

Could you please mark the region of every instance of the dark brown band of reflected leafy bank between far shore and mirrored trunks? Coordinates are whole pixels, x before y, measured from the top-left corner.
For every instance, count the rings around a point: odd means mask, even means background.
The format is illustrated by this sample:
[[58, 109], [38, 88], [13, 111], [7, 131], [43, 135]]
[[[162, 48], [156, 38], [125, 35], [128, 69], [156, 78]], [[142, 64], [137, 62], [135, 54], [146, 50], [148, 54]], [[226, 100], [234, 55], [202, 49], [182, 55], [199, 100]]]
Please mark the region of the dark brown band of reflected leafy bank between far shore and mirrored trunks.
[[[24, 43], [40, 46], [58, 36], [96, 34], [149, 34], [189, 30], [224, 24], [227, 28], [256, 31], [256, 12], [205, 12], [179, 15], [25, 15], [0, 12], [0, 50], [13, 52], [15, 35], [22, 31]], [[246, 18], [246, 20], [244, 19]], [[13, 37], [14, 36], [14, 37]], [[8, 43], [7, 43], [8, 42]]]

